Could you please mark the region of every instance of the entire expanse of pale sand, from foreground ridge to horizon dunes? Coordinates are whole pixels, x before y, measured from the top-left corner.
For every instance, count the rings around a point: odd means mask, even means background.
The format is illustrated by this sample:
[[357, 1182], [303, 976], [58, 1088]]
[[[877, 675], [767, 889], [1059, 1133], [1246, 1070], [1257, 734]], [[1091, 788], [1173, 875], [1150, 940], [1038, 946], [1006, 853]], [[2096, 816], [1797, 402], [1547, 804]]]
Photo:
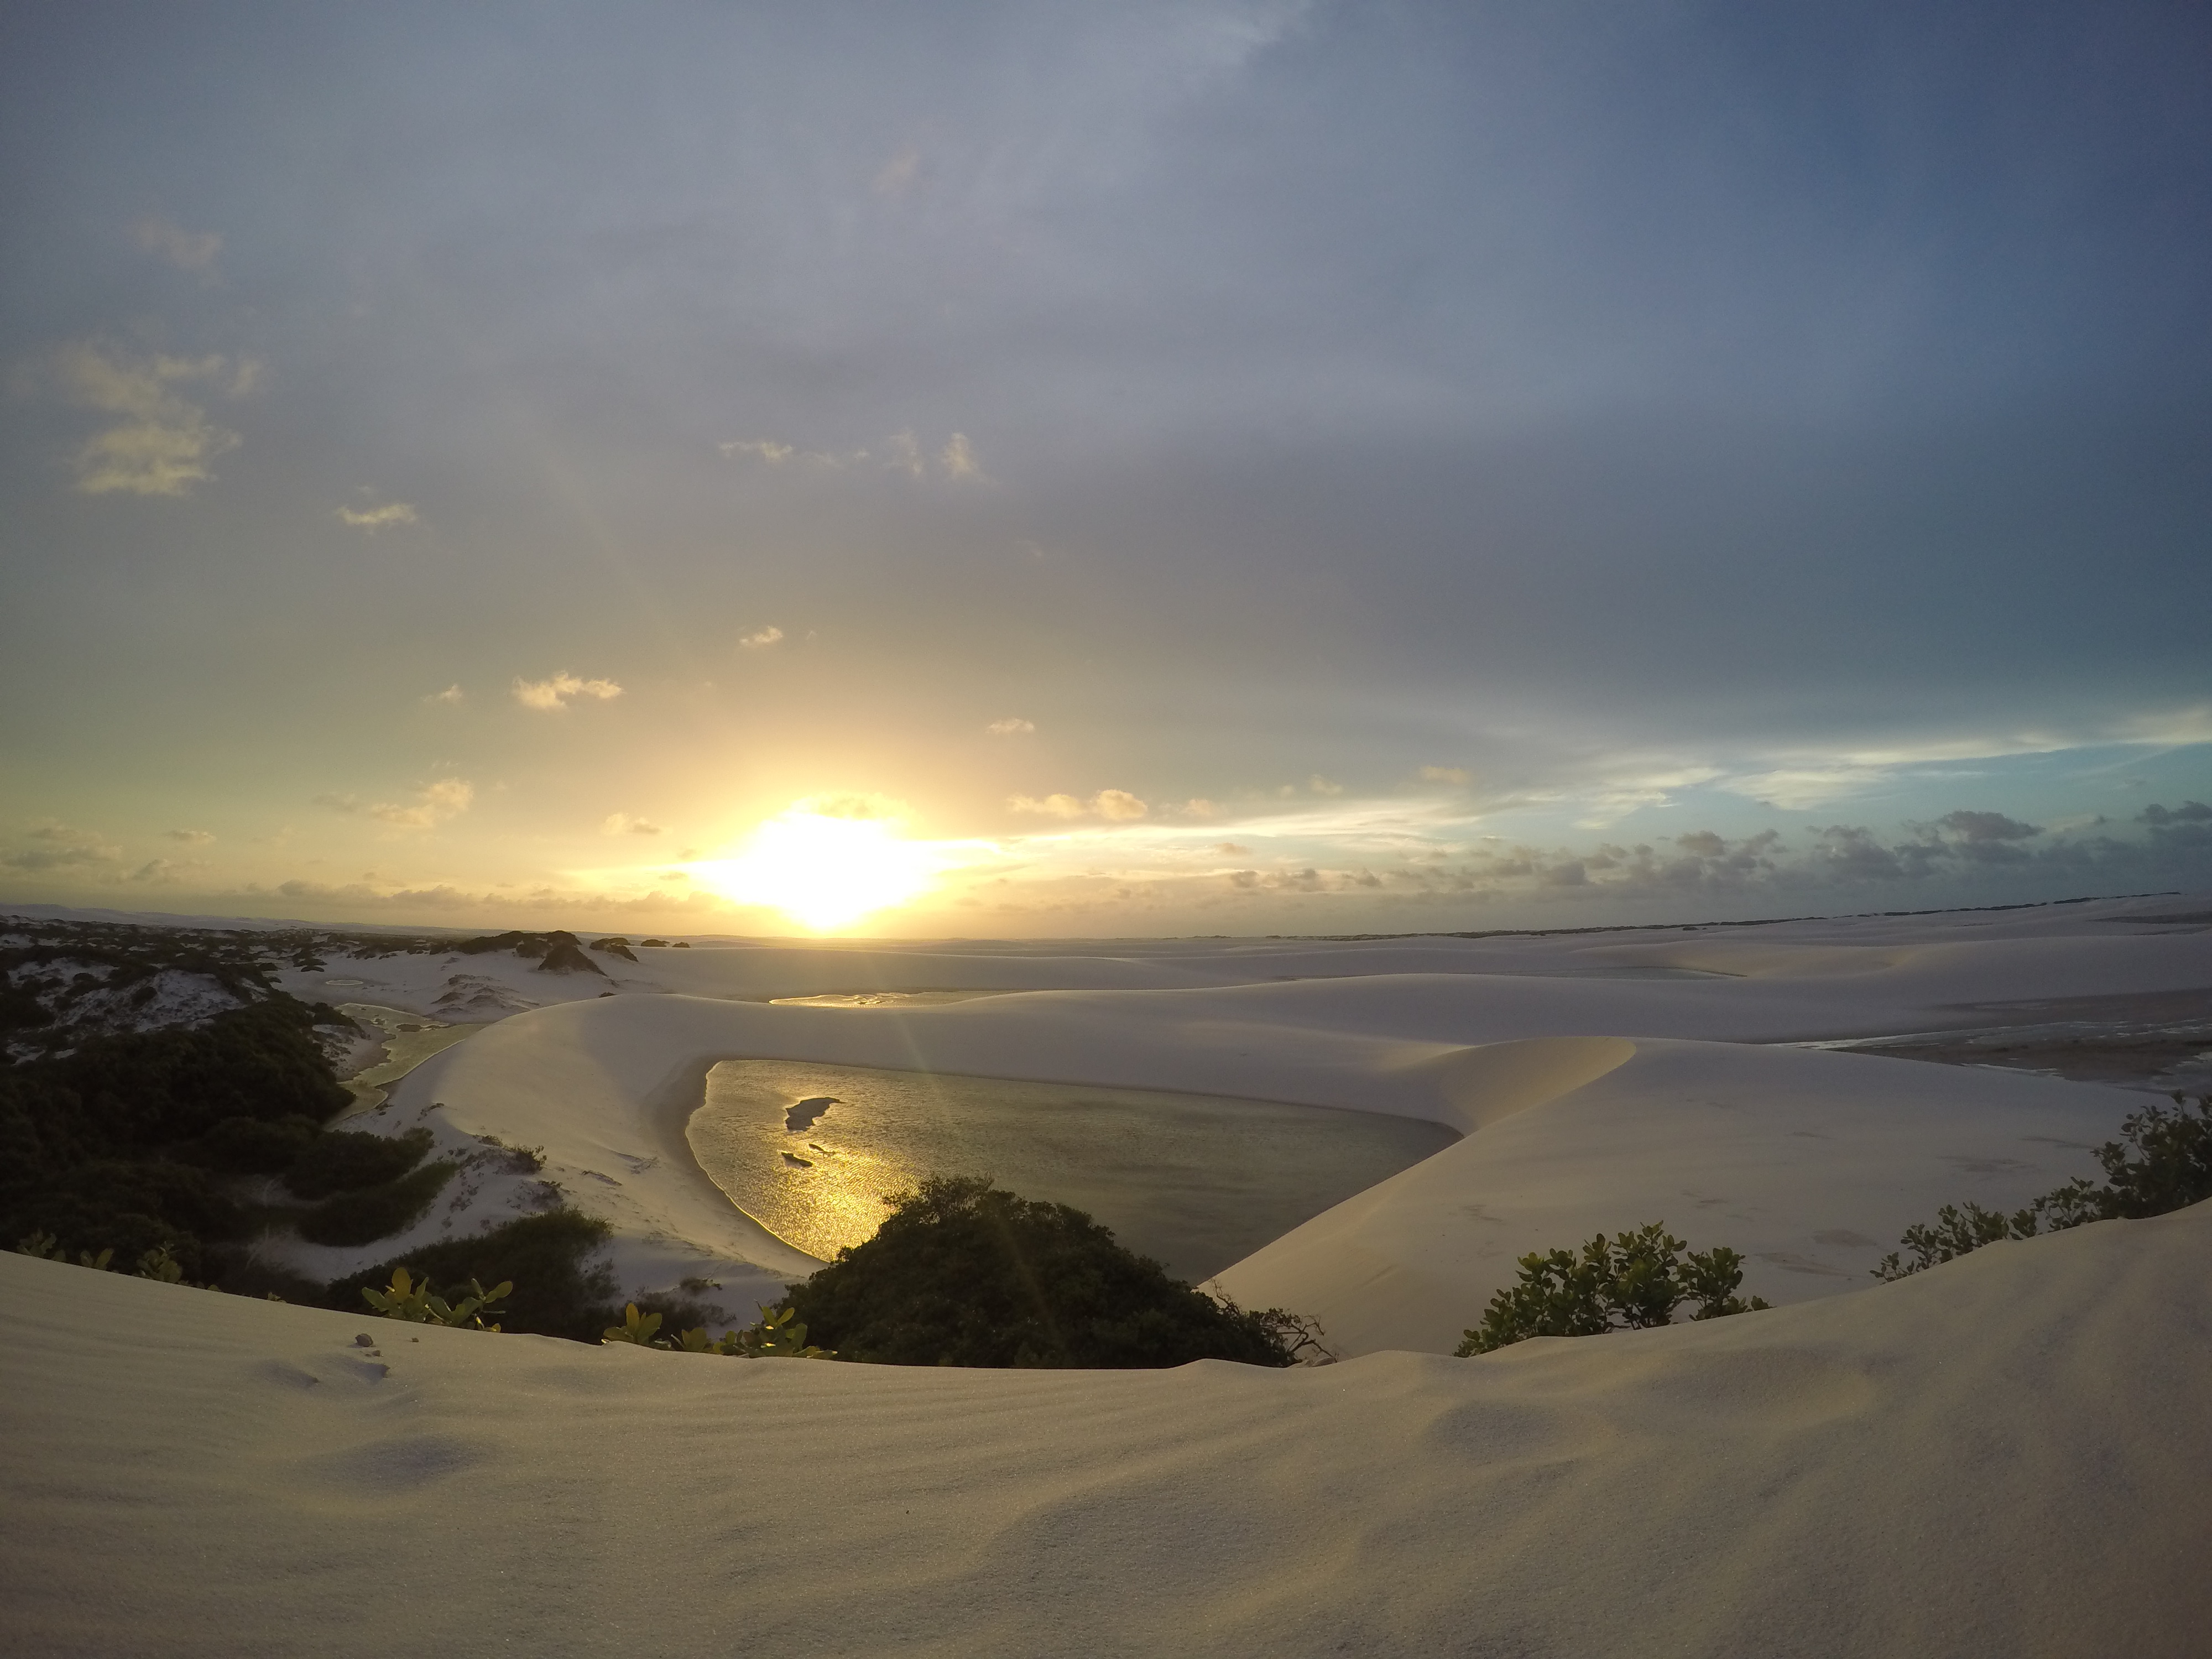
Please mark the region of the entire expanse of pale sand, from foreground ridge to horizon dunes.
[[[1564, 940], [701, 945], [622, 964], [611, 998], [471, 958], [546, 1006], [434, 1055], [367, 1121], [544, 1146], [544, 1177], [615, 1225], [624, 1290], [708, 1274], [739, 1316], [812, 1261], [690, 1157], [723, 1057], [1287, 1099], [1464, 1139], [1221, 1274], [1356, 1356], [1287, 1374], [409, 1336], [0, 1254], [0, 1646], [2203, 1652], [2212, 1206], [1867, 1276], [1940, 1203], [2088, 1172], [2143, 1095], [1765, 1046], [2190, 1018], [2212, 929], [2126, 922], [2161, 902]], [[358, 995], [389, 1006], [442, 984], [438, 958], [341, 967], [383, 973]], [[765, 1002], [865, 989], [1004, 995]], [[500, 1179], [314, 1267], [498, 1221], [533, 1177]], [[1513, 1256], [1652, 1219], [1743, 1250], [1783, 1305], [1444, 1356]]]

